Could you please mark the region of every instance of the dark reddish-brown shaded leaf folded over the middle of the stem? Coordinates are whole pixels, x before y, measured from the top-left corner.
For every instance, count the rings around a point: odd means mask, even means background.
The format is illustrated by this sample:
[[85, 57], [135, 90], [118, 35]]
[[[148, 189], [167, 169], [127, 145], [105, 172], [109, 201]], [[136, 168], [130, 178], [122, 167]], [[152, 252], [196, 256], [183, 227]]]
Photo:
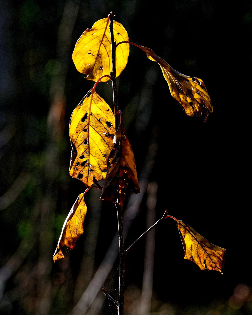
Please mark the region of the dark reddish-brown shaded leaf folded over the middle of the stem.
[[127, 195], [140, 192], [134, 154], [122, 123], [117, 129], [113, 149], [107, 157], [107, 169], [100, 200], [111, 201], [122, 207]]

